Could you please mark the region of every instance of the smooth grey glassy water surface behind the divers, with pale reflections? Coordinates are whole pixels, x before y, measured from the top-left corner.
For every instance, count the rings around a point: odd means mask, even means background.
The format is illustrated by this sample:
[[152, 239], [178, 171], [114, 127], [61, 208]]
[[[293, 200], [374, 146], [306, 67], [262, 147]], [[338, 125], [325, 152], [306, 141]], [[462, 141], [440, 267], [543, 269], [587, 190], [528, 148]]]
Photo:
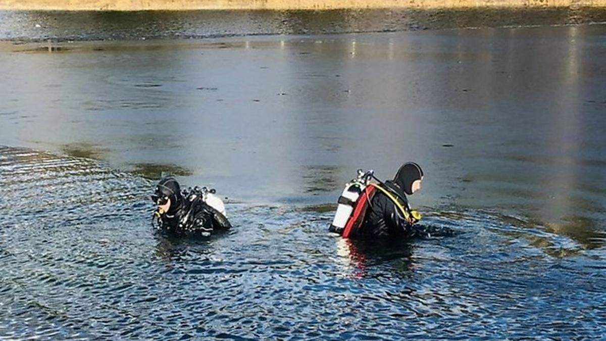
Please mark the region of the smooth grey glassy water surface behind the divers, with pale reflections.
[[0, 53], [0, 112], [18, 113], [0, 115], [0, 133], [59, 152], [88, 144], [117, 168], [173, 168], [184, 184], [253, 202], [333, 203], [356, 169], [385, 179], [417, 160], [427, 181], [413, 206], [513, 211], [538, 226], [579, 217], [599, 234], [606, 123], [586, 101], [604, 96], [603, 34], [596, 25]]

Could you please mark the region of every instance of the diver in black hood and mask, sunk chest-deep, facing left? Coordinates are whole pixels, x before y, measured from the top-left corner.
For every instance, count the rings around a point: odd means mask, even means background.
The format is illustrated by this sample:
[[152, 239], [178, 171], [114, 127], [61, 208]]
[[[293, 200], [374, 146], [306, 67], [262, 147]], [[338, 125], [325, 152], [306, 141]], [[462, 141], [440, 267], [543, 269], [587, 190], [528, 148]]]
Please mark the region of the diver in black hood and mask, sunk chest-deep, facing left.
[[194, 187], [181, 191], [175, 178], [165, 177], [151, 195], [156, 204], [155, 225], [160, 231], [178, 236], [208, 237], [231, 228], [223, 201], [214, 189]]

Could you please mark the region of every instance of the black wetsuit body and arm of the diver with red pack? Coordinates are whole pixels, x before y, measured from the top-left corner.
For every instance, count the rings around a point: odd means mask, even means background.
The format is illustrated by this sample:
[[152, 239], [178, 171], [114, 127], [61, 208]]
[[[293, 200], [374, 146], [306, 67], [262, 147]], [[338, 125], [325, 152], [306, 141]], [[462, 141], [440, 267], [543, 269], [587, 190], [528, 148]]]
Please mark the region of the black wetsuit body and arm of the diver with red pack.
[[[393, 181], [385, 181], [384, 188], [410, 211], [408, 200], [401, 187]], [[350, 237], [358, 239], [405, 237], [410, 234], [410, 228], [410, 223], [404, 218], [398, 206], [387, 195], [377, 190], [370, 200], [364, 222]]]

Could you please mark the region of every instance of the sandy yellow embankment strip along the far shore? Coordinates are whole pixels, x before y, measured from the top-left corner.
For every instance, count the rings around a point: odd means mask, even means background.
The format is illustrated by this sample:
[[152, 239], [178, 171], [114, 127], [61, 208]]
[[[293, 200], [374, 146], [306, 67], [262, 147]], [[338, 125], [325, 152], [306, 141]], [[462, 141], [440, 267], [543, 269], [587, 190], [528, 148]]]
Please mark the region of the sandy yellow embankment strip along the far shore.
[[0, 0], [0, 10], [328, 10], [606, 7], [606, 0]]

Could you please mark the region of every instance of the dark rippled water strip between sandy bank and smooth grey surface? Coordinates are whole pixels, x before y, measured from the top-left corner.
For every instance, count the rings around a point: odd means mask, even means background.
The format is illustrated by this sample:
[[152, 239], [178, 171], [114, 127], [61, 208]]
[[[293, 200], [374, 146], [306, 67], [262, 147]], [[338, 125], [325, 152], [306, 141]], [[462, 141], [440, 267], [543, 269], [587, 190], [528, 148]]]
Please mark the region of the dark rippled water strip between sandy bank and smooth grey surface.
[[606, 22], [606, 8], [325, 11], [0, 11], [0, 40], [101, 41], [327, 35]]

